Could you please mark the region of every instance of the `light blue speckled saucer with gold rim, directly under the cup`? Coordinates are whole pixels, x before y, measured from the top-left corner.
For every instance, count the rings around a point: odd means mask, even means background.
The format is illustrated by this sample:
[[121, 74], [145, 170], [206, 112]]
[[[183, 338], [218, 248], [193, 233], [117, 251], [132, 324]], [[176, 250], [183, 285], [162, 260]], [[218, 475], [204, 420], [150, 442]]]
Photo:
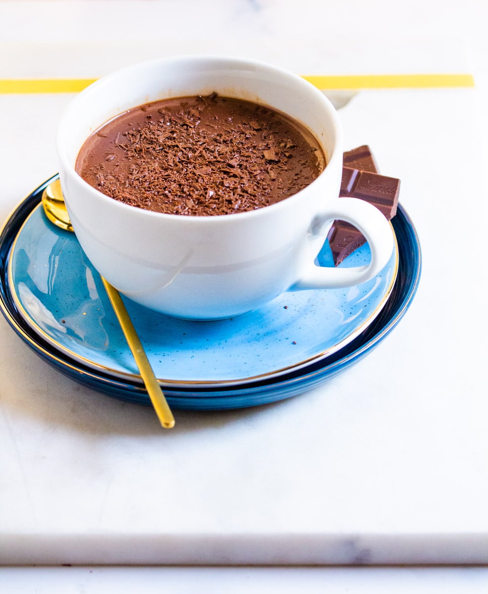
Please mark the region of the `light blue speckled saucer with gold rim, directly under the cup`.
[[[328, 245], [318, 259], [332, 264]], [[344, 265], [368, 260], [365, 244]], [[284, 293], [256, 311], [207, 323], [125, 302], [162, 383], [236, 385], [284, 374], [346, 346], [384, 307], [397, 270], [395, 246], [388, 265], [367, 283]], [[40, 204], [13, 242], [8, 285], [21, 317], [56, 350], [95, 371], [138, 377], [99, 274], [74, 233], [52, 225]]]

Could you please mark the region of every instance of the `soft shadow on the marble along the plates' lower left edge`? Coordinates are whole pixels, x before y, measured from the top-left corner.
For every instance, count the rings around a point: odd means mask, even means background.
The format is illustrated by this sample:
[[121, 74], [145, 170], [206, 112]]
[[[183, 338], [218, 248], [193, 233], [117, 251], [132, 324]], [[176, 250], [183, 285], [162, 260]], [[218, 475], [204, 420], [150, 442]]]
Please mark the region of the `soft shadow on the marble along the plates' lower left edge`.
[[[0, 345], [5, 356], [0, 364], [10, 369], [2, 373], [0, 388], [2, 406], [46, 426], [64, 426], [86, 434], [165, 437], [195, 431], [215, 431], [232, 424], [252, 426], [256, 416], [276, 414], [286, 409], [293, 399], [236, 410], [174, 410], [176, 426], [171, 431], [161, 428], [153, 409], [117, 400], [65, 377], [32, 353], [15, 334], [0, 327]], [[12, 374], [11, 369], [21, 372]]]

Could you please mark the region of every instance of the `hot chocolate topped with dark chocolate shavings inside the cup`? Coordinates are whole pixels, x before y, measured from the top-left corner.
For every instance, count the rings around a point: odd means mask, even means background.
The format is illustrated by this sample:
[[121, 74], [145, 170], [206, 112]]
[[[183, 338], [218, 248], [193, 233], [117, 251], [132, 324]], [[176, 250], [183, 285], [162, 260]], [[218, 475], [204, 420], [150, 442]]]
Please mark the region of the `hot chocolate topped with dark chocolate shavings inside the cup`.
[[180, 97], [122, 113], [88, 138], [81, 177], [109, 197], [170, 214], [232, 214], [305, 188], [324, 169], [315, 138], [240, 99]]

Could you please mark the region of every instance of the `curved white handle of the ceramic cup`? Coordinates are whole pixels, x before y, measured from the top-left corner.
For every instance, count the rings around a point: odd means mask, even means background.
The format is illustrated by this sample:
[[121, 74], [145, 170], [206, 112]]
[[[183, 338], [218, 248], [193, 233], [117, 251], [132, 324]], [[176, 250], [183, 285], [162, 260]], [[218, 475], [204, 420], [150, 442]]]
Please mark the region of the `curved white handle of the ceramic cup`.
[[388, 263], [394, 247], [393, 230], [378, 208], [359, 198], [339, 198], [327, 211], [327, 221], [335, 219], [351, 223], [365, 236], [371, 250], [370, 263], [353, 268], [332, 268], [310, 262], [289, 290], [359, 285], [376, 276]]

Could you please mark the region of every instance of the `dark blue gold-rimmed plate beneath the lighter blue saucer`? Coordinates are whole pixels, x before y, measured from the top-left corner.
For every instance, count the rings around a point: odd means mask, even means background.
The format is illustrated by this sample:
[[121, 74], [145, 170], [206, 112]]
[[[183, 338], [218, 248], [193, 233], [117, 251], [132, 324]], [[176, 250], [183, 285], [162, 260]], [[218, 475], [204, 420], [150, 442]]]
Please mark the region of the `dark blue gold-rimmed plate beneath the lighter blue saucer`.
[[[55, 179], [47, 180], [12, 213], [0, 233], [0, 308], [8, 323], [31, 349], [46, 362], [72, 379], [102, 391], [109, 396], [130, 402], [149, 405], [150, 401], [140, 378], [121, 377], [112, 370], [94, 369], [84, 365], [69, 353], [43, 339], [42, 333], [26, 323], [25, 312], [18, 311], [17, 301], [12, 296], [8, 279], [8, 264], [15, 238], [30, 213], [37, 207], [46, 185]], [[401, 320], [411, 304], [420, 277], [420, 246], [407, 214], [401, 206], [392, 226], [398, 243], [398, 274], [394, 287], [386, 303], [376, 318], [352, 342], [321, 358], [290, 372], [245, 384], [232, 381], [225, 386], [184, 386], [161, 381], [169, 405], [185, 409], [232, 409], [274, 402], [296, 396], [321, 384], [328, 378], [344, 371], [370, 352]]]

